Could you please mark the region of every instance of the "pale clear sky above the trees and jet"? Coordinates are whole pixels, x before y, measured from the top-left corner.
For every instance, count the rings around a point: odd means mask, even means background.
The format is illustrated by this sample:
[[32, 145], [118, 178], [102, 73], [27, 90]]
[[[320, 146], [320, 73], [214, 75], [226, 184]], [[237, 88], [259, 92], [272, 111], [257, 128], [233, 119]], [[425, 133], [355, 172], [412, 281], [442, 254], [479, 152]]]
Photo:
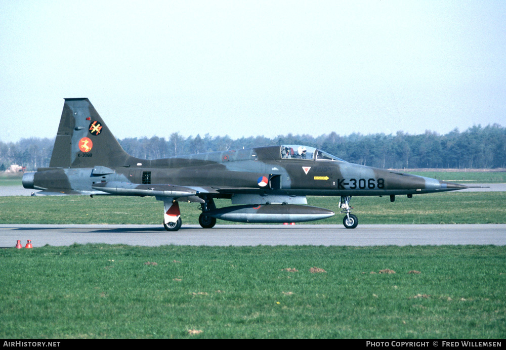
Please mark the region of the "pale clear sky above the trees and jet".
[[0, 140], [506, 126], [506, 2], [0, 0]]

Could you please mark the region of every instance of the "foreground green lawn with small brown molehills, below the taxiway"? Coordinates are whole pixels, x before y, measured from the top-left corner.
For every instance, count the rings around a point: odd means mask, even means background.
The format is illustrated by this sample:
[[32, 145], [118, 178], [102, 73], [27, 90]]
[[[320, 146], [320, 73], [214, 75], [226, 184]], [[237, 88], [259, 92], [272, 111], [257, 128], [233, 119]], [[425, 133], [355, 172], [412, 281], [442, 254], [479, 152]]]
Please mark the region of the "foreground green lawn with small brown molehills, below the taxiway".
[[500, 339], [505, 257], [500, 246], [8, 248], [0, 338]]

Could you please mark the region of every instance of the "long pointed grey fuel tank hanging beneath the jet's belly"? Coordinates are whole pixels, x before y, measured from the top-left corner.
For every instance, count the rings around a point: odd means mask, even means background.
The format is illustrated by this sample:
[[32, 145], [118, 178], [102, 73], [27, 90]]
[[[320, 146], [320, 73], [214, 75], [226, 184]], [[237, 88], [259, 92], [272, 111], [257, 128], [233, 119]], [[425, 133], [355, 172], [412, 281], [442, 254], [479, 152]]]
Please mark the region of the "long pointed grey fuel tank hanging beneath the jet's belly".
[[235, 205], [205, 212], [205, 215], [238, 223], [301, 223], [334, 215], [324, 208], [293, 204]]

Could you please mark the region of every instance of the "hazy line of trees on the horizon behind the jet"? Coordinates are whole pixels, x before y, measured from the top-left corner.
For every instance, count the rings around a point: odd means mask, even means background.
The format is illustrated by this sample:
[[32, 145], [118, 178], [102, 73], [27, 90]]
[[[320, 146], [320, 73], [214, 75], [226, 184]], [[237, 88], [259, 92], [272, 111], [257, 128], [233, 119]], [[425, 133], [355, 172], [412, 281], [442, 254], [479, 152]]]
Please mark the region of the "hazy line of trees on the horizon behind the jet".
[[[0, 141], [0, 170], [11, 164], [26, 166], [27, 170], [49, 166], [54, 141], [47, 138]], [[258, 136], [233, 140], [209, 134], [185, 138], [173, 133], [167, 139], [153, 136], [118, 141], [126, 152], [143, 159], [289, 144], [315, 147], [352, 163], [379, 168], [506, 167], [506, 128], [499, 124], [475, 125], [464, 132], [455, 128], [446, 135], [429, 130], [420, 135], [397, 132], [340, 136], [331, 132], [318, 137], [288, 134], [272, 139]]]

